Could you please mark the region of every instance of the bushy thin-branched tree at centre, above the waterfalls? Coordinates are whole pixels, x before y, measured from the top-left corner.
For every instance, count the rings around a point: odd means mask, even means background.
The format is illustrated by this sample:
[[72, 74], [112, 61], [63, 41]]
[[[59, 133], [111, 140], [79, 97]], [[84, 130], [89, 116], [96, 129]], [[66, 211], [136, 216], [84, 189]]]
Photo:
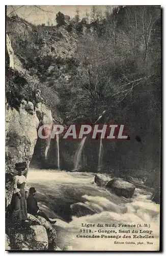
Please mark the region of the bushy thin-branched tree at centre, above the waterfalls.
[[101, 50], [101, 46], [101, 40], [96, 37], [82, 38], [78, 45], [76, 59], [79, 67], [71, 81], [72, 94], [69, 100], [74, 100], [75, 104], [68, 105], [71, 119], [77, 116], [96, 120], [112, 102], [111, 78], [104, 53], [106, 48]]

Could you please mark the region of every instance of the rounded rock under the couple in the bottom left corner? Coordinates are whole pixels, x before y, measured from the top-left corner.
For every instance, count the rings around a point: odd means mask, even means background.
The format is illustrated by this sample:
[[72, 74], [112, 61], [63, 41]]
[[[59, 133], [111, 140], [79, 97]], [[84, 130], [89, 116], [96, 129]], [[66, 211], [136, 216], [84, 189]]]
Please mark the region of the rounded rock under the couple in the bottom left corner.
[[6, 250], [61, 250], [56, 245], [56, 230], [43, 217], [28, 214], [21, 226], [6, 222]]

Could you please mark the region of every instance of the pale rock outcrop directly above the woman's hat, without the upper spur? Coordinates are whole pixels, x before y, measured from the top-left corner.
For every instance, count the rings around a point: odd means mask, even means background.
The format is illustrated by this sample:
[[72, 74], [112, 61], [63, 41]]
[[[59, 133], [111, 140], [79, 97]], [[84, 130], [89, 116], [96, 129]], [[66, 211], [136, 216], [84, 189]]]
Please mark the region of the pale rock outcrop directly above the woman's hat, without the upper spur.
[[26, 106], [27, 103], [22, 101], [18, 111], [6, 109], [6, 189], [9, 200], [12, 193], [11, 183], [17, 175], [15, 163], [26, 162], [29, 167], [37, 141], [39, 119], [36, 112], [27, 111]]

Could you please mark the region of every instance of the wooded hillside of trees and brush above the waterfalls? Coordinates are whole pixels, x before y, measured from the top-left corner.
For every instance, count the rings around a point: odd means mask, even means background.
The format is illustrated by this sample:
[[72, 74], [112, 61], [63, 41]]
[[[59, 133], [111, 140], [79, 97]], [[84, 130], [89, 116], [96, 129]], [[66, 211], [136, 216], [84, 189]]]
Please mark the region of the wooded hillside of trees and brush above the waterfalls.
[[[108, 121], [128, 122], [132, 141], [136, 135], [143, 140], [116, 145], [112, 154], [123, 160], [119, 168], [159, 169], [160, 7], [119, 6], [105, 14], [93, 7], [81, 22], [79, 12], [66, 21], [59, 12], [57, 26], [13, 19], [14, 52], [38, 81], [51, 110], [58, 104], [65, 122], [94, 121], [104, 110]], [[119, 150], [128, 152], [127, 159]]]

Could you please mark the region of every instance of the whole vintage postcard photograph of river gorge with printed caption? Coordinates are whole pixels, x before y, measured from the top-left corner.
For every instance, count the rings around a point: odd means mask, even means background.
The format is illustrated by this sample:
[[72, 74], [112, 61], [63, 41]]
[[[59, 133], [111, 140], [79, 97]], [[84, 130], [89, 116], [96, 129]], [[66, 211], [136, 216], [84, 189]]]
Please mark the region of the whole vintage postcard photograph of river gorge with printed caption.
[[5, 249], [159, 251], [161, 6], [5, 12]]

